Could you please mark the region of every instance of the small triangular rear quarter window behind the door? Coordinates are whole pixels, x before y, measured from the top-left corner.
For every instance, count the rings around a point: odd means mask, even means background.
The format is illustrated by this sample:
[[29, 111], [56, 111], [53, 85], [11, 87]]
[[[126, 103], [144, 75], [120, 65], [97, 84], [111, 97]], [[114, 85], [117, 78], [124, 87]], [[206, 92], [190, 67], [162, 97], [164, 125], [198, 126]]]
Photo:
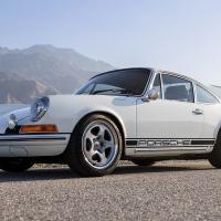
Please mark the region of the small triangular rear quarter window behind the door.
[[204, 88], [202, 88], [199, 85], [196, 85], [196, 93], [197, 93], [197, 102], [199, 103], [218, 103], [218, 99], [210, 94], [208, 91], [206, 91]]

